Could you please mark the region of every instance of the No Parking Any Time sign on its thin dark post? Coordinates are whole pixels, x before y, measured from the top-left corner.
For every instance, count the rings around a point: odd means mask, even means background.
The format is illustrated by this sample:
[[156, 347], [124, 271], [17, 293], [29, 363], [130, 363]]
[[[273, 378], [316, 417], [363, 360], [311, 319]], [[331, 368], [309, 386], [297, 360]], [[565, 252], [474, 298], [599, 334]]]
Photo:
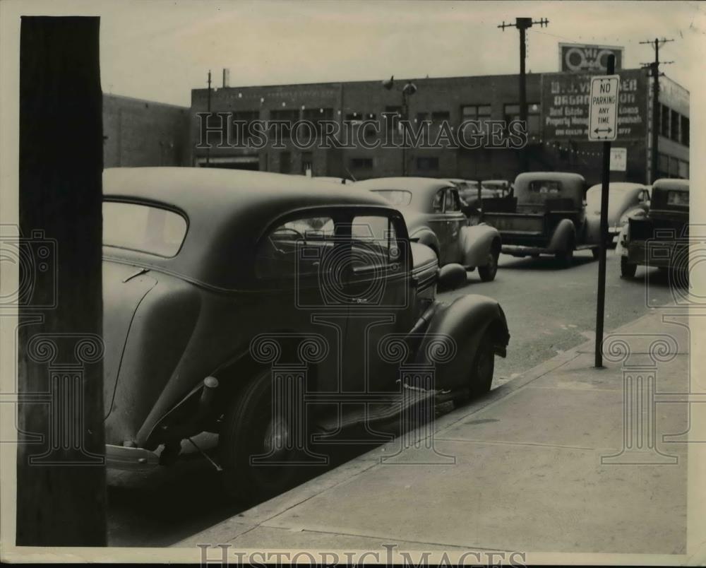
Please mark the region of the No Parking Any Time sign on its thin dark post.
[[606, 235], [608, 233], [608, 188], [610, 182], [611, 141], [618, 136], [618, 90], [620, 76], [614, 75], [616, 59], [608, 57], [608, 75], [591, 78], [588, 119], [589, 141], [603, 142], [601, 190], [601, 228], [598, 257], [598, 302], [596, 309], [596, 367], [603, 367], [603, 319], [606, 308]]

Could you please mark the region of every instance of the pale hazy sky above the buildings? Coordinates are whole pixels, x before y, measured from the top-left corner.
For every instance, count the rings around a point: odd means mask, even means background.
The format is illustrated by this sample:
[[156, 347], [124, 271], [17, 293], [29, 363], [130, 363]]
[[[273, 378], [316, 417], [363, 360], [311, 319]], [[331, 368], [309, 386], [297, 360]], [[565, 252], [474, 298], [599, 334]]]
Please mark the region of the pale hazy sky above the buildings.
[[[27, 9], [25, 9], [25, 6]], [[68, 3], [23, 5], [25, 13]], [[558, 43], [625, 47], [626, 68], [652, 61], [655, 37], [674, 39], [660, 59], [690, 89], [702, 74], [695, 40], [706, 35], [706, 3], [693, 1], [150, 0], [78, 4], [101, 16], [101, 75], [107, 93], [188, 106], [208, 70], [220, 86], [517, 73], [519, 34], [498, 24], [548, 18], [527, 33], [527, 70], [558, 71]], [[36, 13], [38, 13], [36, 12]]]

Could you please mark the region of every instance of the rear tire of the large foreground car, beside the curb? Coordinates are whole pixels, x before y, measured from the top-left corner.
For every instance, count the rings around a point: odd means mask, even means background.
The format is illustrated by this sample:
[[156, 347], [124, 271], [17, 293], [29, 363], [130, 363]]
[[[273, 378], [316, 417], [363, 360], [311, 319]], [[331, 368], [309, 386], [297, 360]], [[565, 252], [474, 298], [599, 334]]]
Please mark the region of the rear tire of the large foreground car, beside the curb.
[[[286, 419], [275, 419], [273, 414], [272, 379], [268, 369], [234, 398], [220, 431], [223, 483], [227, 494], [239, 502], [261, 502], [289, 489], [297, 480], [299, 468], [282, 463], [295, 458], [295, 451], [286, 447], [292, 445], [286, 439], [292, 426], [285, 423]], [[281, 445], [282, 437], [285, 437], [285, 449], [273, 449], [275, 439]], [[269, 463], [252, 462], [252, 456], [266, 456], [268, 452], [272, 454], [265, 458]]]

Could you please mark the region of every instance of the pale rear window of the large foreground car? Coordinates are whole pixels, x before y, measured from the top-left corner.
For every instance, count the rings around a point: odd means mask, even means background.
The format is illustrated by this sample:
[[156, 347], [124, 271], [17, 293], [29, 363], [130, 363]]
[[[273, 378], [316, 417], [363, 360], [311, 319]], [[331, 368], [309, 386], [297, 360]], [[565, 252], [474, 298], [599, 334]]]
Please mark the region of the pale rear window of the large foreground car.
[[156, 256], [179, 252], [186, 219], [168, 209], [142, 203], [103, 202], [103, 244]]

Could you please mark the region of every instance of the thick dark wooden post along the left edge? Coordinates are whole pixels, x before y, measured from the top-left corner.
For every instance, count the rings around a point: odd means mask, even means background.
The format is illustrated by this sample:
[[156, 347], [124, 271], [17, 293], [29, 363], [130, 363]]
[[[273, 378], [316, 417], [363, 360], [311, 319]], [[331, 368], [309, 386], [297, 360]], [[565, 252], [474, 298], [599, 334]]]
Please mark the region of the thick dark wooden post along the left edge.
[[33, 286], [18, 308], [20, 546], [106, 544], [99, 25], [20, 28], [20, 247], [34, 262], [20, 264]]

